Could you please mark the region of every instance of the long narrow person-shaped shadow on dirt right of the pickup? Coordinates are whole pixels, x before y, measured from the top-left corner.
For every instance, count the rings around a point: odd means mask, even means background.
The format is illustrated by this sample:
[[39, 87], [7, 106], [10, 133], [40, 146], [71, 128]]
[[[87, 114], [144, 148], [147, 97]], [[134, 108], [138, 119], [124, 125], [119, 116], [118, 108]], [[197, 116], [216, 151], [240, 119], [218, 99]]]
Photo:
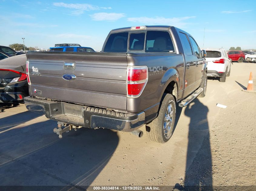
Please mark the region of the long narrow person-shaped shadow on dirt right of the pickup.
[[212, 190], [212, 159], [207, 120], [208, 107], [198, 99], [185, 108], [190, 117], [186, 172], [183, 185], [178, 190]]

